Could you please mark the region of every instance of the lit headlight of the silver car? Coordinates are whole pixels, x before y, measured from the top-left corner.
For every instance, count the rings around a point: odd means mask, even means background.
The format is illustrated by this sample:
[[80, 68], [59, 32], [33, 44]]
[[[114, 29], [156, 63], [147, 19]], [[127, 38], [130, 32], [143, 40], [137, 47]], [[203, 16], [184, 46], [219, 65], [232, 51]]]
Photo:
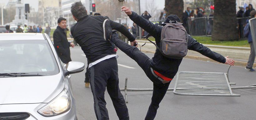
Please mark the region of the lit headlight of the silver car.
[[37, 110], [45, 117], [52, 117], [67, 112], [71, 108], [71, 98], [67, 89], [64, 89], [56, 98]]

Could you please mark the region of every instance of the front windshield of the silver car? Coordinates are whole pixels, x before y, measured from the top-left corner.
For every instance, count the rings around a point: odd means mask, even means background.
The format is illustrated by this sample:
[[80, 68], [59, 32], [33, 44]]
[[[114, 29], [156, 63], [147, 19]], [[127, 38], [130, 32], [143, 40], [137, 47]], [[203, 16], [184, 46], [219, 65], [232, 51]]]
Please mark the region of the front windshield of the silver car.
[[55, 75], [56, 59], [46, 40], [0, 41], [0, 74]]

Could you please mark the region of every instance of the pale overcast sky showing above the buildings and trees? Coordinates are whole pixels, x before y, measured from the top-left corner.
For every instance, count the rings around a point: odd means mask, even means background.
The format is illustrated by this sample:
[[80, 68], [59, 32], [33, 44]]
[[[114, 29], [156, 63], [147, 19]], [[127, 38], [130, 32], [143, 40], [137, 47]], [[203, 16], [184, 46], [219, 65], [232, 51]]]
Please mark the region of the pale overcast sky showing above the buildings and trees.
[[[5, 5], [8, 3], [9, 0], [0, 0], [0, 4], [4, 3]], [[17, 0], [12, 0], [17, 1]], [[35, 8], [35, 11], [38, 10], [38, 0], [22, 0], [24, 4], [29, 4], [30, 7]], [[140, 0], [140, 9], [141, 11], [147, 10], [146, 2], [152, 2], [152, 0]], [[154, 0], [155, 5], [158, 9], [163, 10], [165, 7], [165, 0]], [[148, 3], [150, 4], [150, 3]]]

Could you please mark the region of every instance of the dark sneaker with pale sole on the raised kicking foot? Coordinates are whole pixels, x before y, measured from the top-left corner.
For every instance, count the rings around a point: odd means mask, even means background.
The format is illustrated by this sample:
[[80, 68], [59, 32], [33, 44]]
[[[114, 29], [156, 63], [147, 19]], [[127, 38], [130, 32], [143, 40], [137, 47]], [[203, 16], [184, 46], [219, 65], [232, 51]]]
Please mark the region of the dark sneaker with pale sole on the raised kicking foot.
[[104, 20], [103, 22], [103, 37], [106, 41], [110, 41], [112, 32], [112, 28], [110, 26], [110, 22], [108, 19]]

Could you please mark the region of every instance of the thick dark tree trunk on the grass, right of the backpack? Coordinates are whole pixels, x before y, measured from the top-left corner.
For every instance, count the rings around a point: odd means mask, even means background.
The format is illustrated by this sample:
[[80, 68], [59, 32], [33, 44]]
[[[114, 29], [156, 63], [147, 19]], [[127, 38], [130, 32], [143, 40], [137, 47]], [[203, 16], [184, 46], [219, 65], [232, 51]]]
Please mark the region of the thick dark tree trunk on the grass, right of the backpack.
[[213, 41], [238, 40], [235, 0], [214, 0]]

